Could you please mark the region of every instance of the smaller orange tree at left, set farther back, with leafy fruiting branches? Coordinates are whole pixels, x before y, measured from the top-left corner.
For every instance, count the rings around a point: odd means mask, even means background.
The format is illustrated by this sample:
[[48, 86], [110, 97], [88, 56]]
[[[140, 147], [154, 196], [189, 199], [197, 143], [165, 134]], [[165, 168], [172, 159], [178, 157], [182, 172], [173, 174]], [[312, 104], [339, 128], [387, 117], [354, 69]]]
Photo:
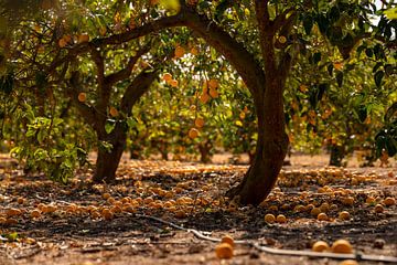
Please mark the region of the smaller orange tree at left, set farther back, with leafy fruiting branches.
[[[149, 6], [42, 1], [31, 17], [9, 20], [13, 32], [6, 29], [2, 39], [7, 65], [1, 88], [7, 94], [9, 87], [18, 87], [20, 98], [34, 98], [21, 104], [21, 126], [28, 132], [13, 150], [17, 156], [65, 181], [62, 174], [73, 173], [76, 153], [81, 151], [64, 137], [71, 127], [66, 125], [66, 130], [61, 131], [65, 124], [60, 117], [63, 105], [72, 105], [96, 132], [94, 181], [115, 179], [128, 126], [133, 124], [131, 108], [157, 78], [167, 51], [150, 35], [114, 44], [97, 42], [95, 38], [133, 29], [150, 15], [140, 12], [144, 7]], [[154, 52], [148, 53], [151, 49]], [[18, 86], [9, 86], [10, 81]], [[60, 141], [62, 145], [57, 145]], [[61, 151], [65, 147], [71, 150]], [[55, 172], [57, 168], [65, 170]]]

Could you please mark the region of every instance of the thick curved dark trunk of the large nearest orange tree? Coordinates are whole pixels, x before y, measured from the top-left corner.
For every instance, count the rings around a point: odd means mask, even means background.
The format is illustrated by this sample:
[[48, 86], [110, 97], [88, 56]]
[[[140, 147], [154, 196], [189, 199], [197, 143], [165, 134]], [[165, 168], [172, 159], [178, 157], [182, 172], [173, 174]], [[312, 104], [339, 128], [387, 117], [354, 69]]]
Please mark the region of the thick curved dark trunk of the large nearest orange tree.
[[[242, 204], [260, 204], [270, 193], [288, 151], [285, 131], [282, 82], [266, 81], [266, 92], [255, 95], [258, 118], [258, 141], [251, 166], [242, 183], [226, 195]], [[272, 87], [270, 87], [272, 86]]]

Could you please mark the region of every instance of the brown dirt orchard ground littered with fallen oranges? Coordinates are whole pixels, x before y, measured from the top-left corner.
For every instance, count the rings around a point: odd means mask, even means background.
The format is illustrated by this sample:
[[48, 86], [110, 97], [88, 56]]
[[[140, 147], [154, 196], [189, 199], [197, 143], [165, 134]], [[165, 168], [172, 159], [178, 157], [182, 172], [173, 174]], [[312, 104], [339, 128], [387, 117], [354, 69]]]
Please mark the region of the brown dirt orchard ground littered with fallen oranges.
[[[354, 253], [397, 256], [397, 167], [329, 168], [326, 156], [292, 156], [273, 192], [258, 208], [223, 197], [247, 166], [124, 158], [115, 186], [89, 182], [81, 170], [67, 186], [25, 176], [0, 157], [0, 264], [339, 264], [331, 258], [270, 255], [236, 244], [232, 259], [217, 243], [160, 223], [230, 235], [277, 250], [310, 250], [348, 240]], [[388, 201], [387, 201], [388, 200]], [[375, 212], [377, 204], [382, 211]], [[328, 219], [319, 221], [311, 211]], [[379, 206], [377, 208], [380, 209]], [[347, 211], [350, 219], [341, 220]], [[286, 223], [264, 216], [283, 214]], [[360, 264], [383, 264], [362, 261]]]

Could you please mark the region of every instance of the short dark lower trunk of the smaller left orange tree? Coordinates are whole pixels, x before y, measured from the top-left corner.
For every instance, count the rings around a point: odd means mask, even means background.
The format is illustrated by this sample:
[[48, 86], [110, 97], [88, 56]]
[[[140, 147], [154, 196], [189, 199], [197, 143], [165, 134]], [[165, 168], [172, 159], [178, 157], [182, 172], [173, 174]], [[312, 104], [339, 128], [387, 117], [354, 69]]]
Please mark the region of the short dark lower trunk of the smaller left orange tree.
[[127, 134], [120, 127], [116, 127], [109, 135], [98, 135], [99, 141], [111, 144], [111, 149], [98, 148], [96, 169], [93, 181], [114, 182], [116, 180], [116, 170], [120, 162], [122, 152], [126, 147]]

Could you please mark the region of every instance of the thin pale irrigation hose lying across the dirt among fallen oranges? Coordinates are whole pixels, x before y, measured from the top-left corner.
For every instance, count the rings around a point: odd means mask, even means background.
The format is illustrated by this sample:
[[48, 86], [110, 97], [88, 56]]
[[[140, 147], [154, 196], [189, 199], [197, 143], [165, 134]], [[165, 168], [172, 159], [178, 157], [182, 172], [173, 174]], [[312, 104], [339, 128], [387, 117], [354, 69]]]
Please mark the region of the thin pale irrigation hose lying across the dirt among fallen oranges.
[[[157, 221], [159, 223], [163, 223], [170, 225], [174, 229], [186, 231], [189, 233], [194, 234], [201, 240], [212, 241], [212, 242], [221, 242], [219, 239], [211, 237], [205, 235], [206, 232], [201, 232], [194, 229], [185, 229], [181, 225], [164, 221], [159, 218], [146, 215], [146, 214], [136, 214], [137, 218], [150, 219]], [[333, 258], [333, 259], [356, 259], [356, 261], [371, 261], [371, 262], [385, 262], [385, 263], [396, 263], [397, 257], [394, 256], [383, 256], [383, 255], [366, 255], [366, 254], [337, 254], [337, 253], [323, 253], [323, 252], [312, 252], [312, 251], [293, 251], [293, 250], [278, 250], [268, 246], [262, 246], [258, 243], [250, 242], [250, 241], [235, 241], [235, 244], [243, 244], [253, 246], [254, 248], [265, 252], [267, 254], [273, 255], [287, 255], [287, 256], [309, 256], [309, 257], [318, 257], [318, 258]]]

